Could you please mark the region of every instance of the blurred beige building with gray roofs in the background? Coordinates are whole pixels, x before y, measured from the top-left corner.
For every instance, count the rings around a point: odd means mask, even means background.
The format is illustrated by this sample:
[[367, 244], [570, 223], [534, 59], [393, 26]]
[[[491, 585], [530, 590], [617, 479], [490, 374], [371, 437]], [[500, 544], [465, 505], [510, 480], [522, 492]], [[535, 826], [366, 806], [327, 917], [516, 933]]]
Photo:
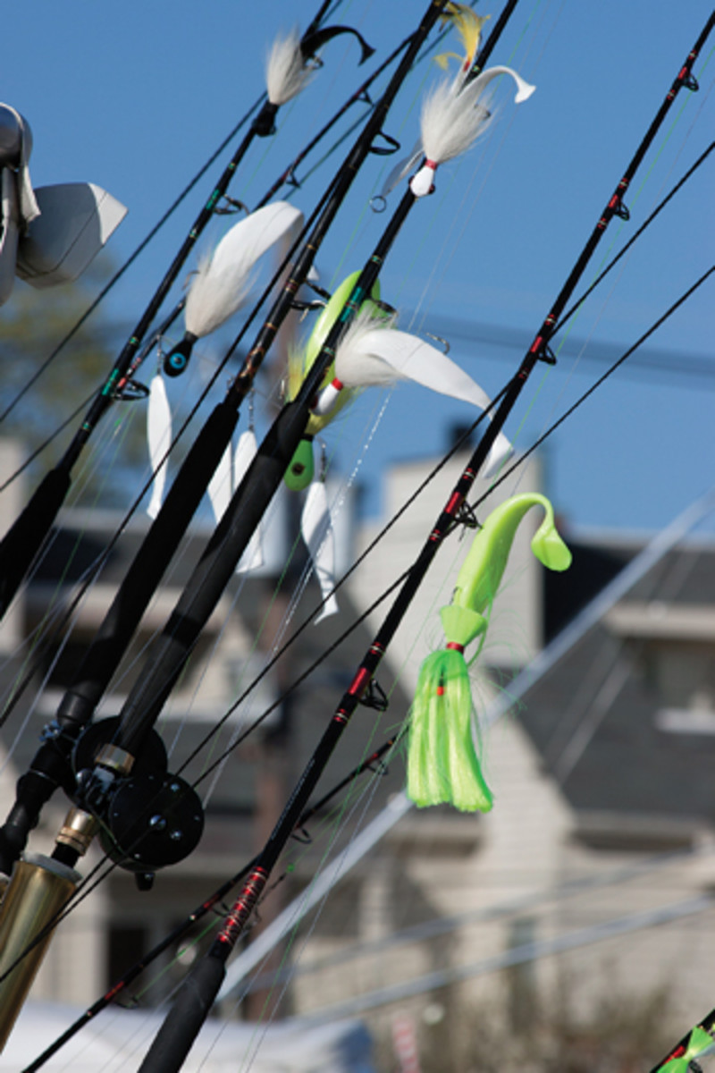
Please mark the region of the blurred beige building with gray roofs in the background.
[[[300, 602], [292, 605], [296, 585], [303, 585], [306, 563], [300, 556], [278, 588], [270, 567], [263, 576], [236, 576], [160, 723], [170, 770], [182, 770], [190, 781], [200, 779], [206, 809], [200, 844], [180, 864], [160, 871], [151, 891], [138, 890], [132, 872], [114, 868], [58, 929], [34, 997], [90, 1003], [263, 844], [390, 600], [369, 608], [414, 561], [462, 462], [453, 458], [361, 562], [340, 597], [340, 615], [301, 631], [256, 695], [234, 712], [247, 679], [263, 670], [274, 646], [283, 644], [317, 603], [317, 590], [309, 583]], [[419, 462], [393, 468], [387, 517], [412, 496], [427, 469]], [[537, 470], [530, 470], [528, 480], [538, 488]], [[527, 488], [521, 483], [519, 490]], [[476, 500], [482, 490], [475, 489]], [[497, 498], [505, 495], [497, 489]], [[478, 506], [477, 517], [486, 510]], [[530, 528], [533, 531], [537, 521], [535, 517], [524, 523], [519, 533], [492, 616], [478, 682], [487, 715], [494, 700], [519, 680], [519, 671], [644, 544], [641, 538], [604, 534], [571, 540], [571, 570], [545, 577], [528, 552]], [[4, 626], [5, 696], [32, 658], [26, 642], [48, 616], [57, 621], [70, 606], [116, 524], [116, 517], [101, 513], [63, 515], [50, 553]], [[113, 548], [99, 580], [74, 613], [70, 642], [54, 645], [43, 656], [32, 688], [0, 729], [3, 750], [10, 753], [12, 747], [12, 768], [5, 768], [0, 783], [3, 814], [14, 779], [53, 718], [146, 528], [145, 520], [136, 520]], [[356, 553], [371, 544], [378, 528], [362, 528]], [[162, 628], [208, 532], [198, 526], [185, 540], [100, 717], [120, 710], [150, 637]], [[449, 601], [468, 544], [467, 527], [463, 536], [455, 533], [445, 543], [381, 667], [374, 707], [359, 709], [354, 717], [321, 791], [341, 781], [399, 730], [419, 662], [440, 643], [436, 611]], [[287, 558], [280, 549], [277, 556], [282, 562]], [[355, 1003], [374, 1034], [385, 1040], [396, 1013], [406, 1011], [420, 1050], [429, 1050], [447, 1026], [455, 1034], [467, 1008], [496, 1009], [504, 1024], [519, 1026], [516, 1035], [527, 1034], [545, 996], [556, 995], [571, 978], [578, 981], [571, 997], [583, 1013], [609, 989], [647, 997], [658, 987], [669, 988], [671, 1009], [685, 1021], [704, 1013], [710, 1008], [706, 970], [713, 954], [707, 924], [712, 911], [705, 905], [697, 913], [691, 908], [690, 915], [673, 917], [658, 931], [635, 932], [640, 937], [635, 940], [637, 956], [625, 940], [592, 943], [598, 938], [596, 926], [710, 897], [714, 556], [715, 545], [706, 541], [670, 550], [632, 592], [549, 665], [508, 718], [490, 730], [486, 764], [496, 795], [493, 812], [407, 812], [345, 873], [318, 910], [302, 920], [273, 960], [254, 971], [249, 998], [243, 998], [243, 983], [237, 987], [242, 1001], [225, 1000], [222, 1013], [265, 1016], [277, 1006], [282, 1015], [329, 1020], [338, 1011], [348, 1014]], [[364, 622], [278, 704], [258, 735], [232, 748], [225, 763], [212, 768], [247, 721], [281, 697], [361, 615]], [[207, 730], [222, 718], [208, 762], [202, 754], [198, 761], [189, 760], [184, 770], [182, 765]], [[398, 748], [387, 773], [381, 766], [375, 777], [361, 776], [346, 796], [321, 810], [308, 827], [309, 837], [299, 833], [281, 882], [262, 902], [263, 926], [381, 814], [403, 780]], [[33, 833], [32, 850], [51, 851], [65, 808], [56, 795]], [[664, 853], [674, 855], [666, 859]], [[93, 848], [83, 871], [90, 871], [100, 856]], [[550, 955], [545, 954], [548, 947], [534, 945], [555, 943], [566, 935], [582, 936], [583, 942], [570, 953], [557, 954], [554, 947]], [[196, 947], [182, 940], [166, 951], [150, 982], [135, 988], [137, 1000], [152, 1006], [164, 999], [209, 939], [210, 932]], [[495, 972], [505, 954], [512, 958], [511, 968]], [[537, 954], [541, 956], [534, 960]], [[78, 961], [81, 973], [75, 969]], [[289, 966], [287, 990], [274, 987], [281, 966]]]

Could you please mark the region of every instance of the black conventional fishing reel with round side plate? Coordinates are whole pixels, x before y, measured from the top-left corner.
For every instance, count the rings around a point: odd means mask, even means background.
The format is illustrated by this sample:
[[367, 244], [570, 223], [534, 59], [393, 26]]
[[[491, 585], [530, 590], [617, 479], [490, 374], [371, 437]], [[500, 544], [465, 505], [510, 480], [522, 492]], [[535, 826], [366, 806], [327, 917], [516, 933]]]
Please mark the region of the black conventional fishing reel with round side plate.
[[119, 717], [92, 723], [77, 741], [74, 798], [98, 822], [107, 856], [135, 873], [139, 890], [148, 890], [159, 868], [178, 864], [196, 848], [204, 808], [195, 790], [168, 771], [159, 734], [150, 731], [132, 761], [114, 745], [119, 723]]

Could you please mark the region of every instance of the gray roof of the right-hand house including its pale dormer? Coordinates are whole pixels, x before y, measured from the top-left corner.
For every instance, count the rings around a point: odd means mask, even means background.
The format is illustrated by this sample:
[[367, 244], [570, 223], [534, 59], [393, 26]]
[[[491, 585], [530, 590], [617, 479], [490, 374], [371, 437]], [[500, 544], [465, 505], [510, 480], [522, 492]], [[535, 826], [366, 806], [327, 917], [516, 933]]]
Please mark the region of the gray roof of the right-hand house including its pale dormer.
[[[545, 576], [549, 638], [640, 550], [631, 539], [569, 546], [572, 568]], [[715, 824], [715, 734], [702, 720], [673, 732], [657, 662], [668, 649], [676, 657], [687, 649], [715, 665], [709, 608], [715, 545], [682, 545], [526, 691], [519, 719], [586, 840], [680, 844]]]

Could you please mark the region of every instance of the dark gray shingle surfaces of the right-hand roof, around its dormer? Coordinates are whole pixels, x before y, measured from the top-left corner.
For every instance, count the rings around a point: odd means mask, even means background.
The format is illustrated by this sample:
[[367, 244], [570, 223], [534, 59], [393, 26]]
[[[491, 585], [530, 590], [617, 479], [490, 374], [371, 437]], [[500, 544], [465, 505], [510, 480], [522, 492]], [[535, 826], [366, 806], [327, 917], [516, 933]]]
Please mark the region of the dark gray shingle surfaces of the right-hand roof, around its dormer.
[[[600, 588], [638, 550], [571, 546], [571, 570], [548, 577], [547, 600], [555, 601], [562, 626], [594, 594], [595, 577]], [[624, 603], [655, 600], [715, 608], [715, 546], [671, 552]], [[552, 632], [557, 620], [552, 606]], [[600, 623], [527, 691], [518, 715], [584, 826], [600, 817], [615, 837], [619, 824], [644, 832], [651, 821], [652, 834], [660, 826], [667, 841], [671, 821], [683, 829], [715, 824], [715, 735], [660, 727], [656, 715], [667, 704], [644, 673], [642, 645]]]

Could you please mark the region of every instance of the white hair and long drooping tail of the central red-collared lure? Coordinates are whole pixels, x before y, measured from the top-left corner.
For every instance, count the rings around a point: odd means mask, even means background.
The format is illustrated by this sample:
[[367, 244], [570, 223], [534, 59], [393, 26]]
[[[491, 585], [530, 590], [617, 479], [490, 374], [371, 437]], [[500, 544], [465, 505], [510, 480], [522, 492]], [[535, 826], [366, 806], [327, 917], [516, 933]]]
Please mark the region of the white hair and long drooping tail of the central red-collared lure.
[[[346, 387], [413, 380], [479, 410], [491, 405], [479, 384], [441, 350], [406, 332], [375, 327], [374, 319], [364, 315], [355, 319], [338, 346], [336, 376]], [[511, 444], [500, 432], [487, 458], [485, 474], [495, 472], [511, 453]]]

